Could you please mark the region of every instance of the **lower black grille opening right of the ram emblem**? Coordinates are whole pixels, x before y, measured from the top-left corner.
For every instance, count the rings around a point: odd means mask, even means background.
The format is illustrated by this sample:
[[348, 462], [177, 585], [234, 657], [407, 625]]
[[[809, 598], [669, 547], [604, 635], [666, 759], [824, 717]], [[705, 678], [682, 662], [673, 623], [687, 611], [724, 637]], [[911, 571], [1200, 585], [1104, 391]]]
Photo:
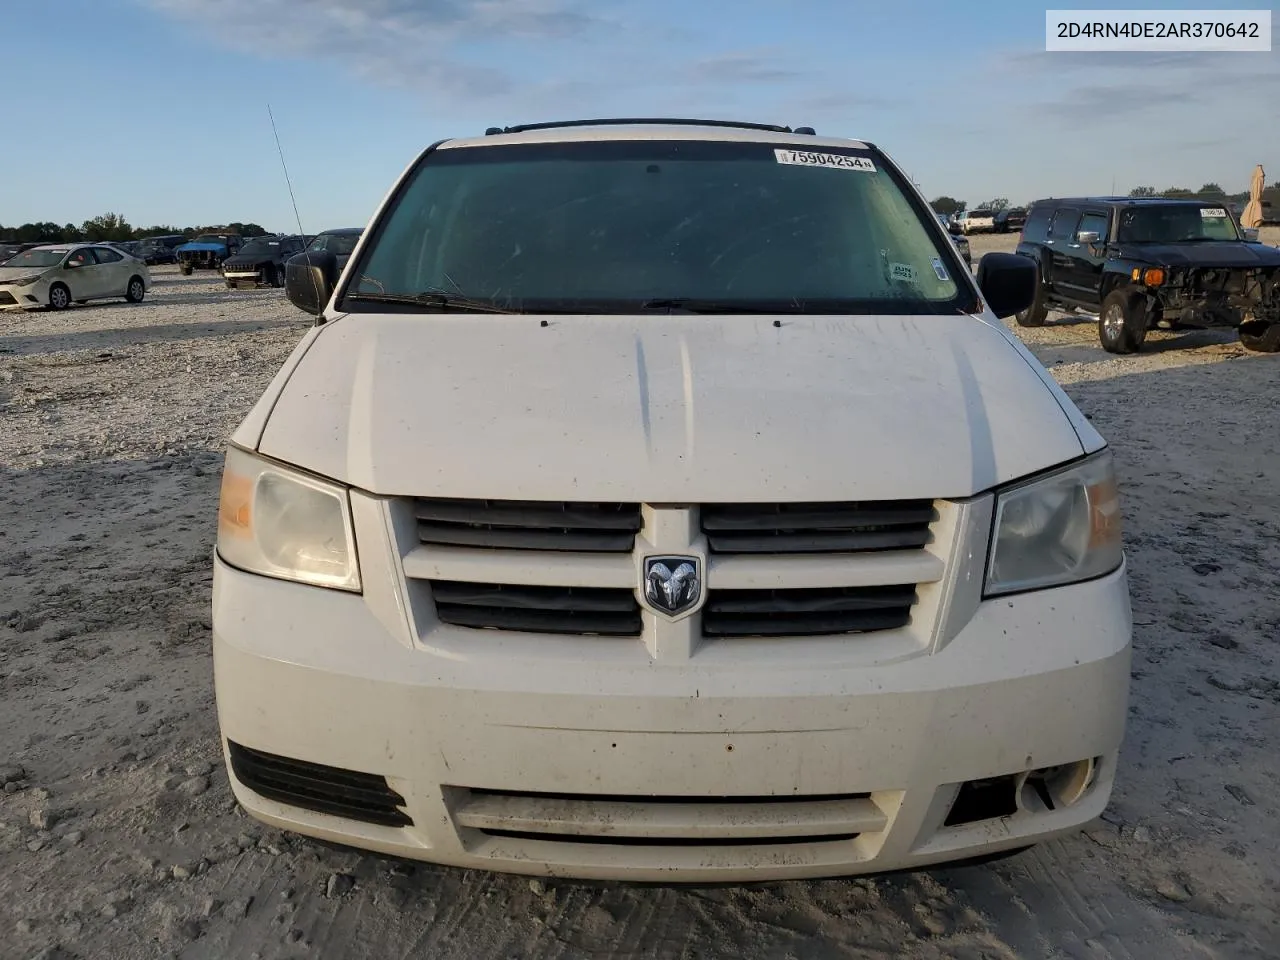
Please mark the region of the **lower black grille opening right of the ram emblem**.
[[915, 585], [799, 590], [712, 590], [703, 636], [785, 637], [865, 634], [911, 622]]

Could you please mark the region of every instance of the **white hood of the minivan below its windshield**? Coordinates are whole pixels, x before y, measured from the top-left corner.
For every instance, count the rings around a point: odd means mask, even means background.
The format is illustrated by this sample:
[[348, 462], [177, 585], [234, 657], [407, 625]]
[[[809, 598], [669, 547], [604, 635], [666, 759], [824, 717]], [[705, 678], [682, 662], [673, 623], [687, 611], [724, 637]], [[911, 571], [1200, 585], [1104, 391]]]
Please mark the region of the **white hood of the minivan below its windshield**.
[[773, 323], [347, 315], [259, 451], [376, 494], [645, 503], [959, 498], [1084, 452], [979, 317]]

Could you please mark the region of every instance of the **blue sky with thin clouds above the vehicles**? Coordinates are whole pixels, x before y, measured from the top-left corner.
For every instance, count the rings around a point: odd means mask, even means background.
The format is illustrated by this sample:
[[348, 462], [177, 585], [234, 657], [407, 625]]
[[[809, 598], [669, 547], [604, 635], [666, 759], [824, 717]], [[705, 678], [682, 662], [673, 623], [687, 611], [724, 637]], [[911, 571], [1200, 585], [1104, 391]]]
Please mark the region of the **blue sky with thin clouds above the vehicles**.
[[586, 115], [809, 124], [970, 205], [1280, 180], [1280, 42], [1048, 54], [1025, 0], [58, 0], [0, 24], [6, 225], [288, 230], [268, 104], [307, 232], [365, 224], [434, 140]]

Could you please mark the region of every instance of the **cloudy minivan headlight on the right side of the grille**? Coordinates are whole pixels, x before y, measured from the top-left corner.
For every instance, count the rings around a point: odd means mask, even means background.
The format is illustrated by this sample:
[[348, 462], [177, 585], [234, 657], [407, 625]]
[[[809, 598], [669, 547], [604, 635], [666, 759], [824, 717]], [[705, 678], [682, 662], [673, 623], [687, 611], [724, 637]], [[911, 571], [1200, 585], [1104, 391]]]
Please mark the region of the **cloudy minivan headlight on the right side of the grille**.
[[1123, 559], [1111, 451], [996, 494], [987, 596], [1092, 580]]

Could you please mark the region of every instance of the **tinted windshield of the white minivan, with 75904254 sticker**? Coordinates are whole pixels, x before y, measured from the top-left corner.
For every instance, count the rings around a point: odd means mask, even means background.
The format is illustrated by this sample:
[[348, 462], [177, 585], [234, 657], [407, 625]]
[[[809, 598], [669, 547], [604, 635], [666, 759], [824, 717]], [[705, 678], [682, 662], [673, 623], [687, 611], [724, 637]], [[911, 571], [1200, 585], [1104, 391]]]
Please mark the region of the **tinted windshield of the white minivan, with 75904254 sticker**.
[[977, 310], [932, 211], [877, 156], [695, 140], [439, 148], [379, 218], [339, 308]]

